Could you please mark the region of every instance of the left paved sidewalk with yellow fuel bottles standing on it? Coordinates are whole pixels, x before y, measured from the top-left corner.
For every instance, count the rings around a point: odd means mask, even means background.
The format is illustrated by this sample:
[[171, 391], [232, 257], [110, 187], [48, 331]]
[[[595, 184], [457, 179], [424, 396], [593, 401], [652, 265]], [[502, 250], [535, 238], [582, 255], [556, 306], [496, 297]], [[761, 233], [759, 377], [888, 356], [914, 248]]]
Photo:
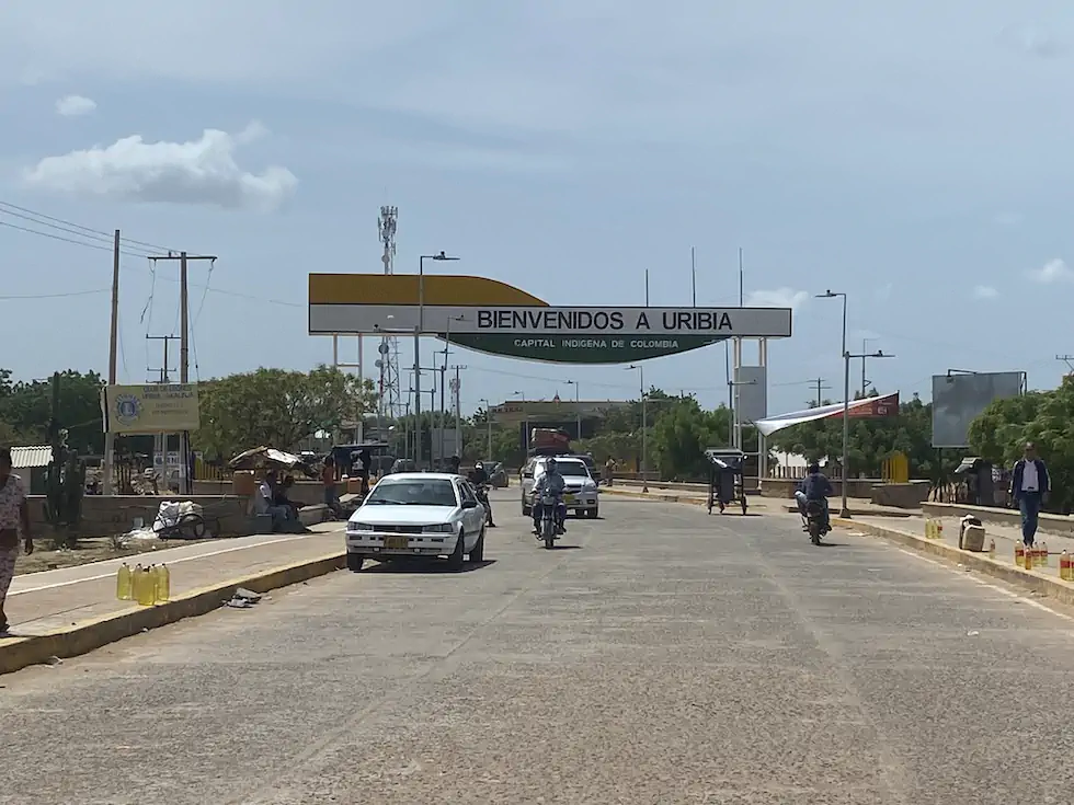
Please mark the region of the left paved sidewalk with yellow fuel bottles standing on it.
[[[70, 629], [83, 621], [132, 609], [115, 597], [116, 571], [126, 562], [168, 565], [171, 597], [264, 573], [284, 565], [343, 553], [344, 524], [322, 522], [312, 533], [272, 534], [215, 540], [15, 576], [4, 602], [12, 637], [28, 637]], [[0, 639], [0, 651], [10, 640]]]

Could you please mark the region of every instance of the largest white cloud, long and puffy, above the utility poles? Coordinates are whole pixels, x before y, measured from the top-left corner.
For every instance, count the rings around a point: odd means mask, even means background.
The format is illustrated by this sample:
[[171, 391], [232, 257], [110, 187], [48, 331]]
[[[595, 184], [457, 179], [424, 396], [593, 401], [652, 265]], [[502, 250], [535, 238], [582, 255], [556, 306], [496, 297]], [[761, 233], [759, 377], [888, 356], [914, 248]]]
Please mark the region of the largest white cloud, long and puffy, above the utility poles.
[[265, 133], [253, 123], [238, 135], [207, 128], [186, 142], [146, 142], [133, 135], [106, 148], [46, 157], [25, 172], [25, 182], [72, 196], [270, 211], [295, 192], [295, 174], [275, 165], [250, 173], [235, 160], [238, 147]]

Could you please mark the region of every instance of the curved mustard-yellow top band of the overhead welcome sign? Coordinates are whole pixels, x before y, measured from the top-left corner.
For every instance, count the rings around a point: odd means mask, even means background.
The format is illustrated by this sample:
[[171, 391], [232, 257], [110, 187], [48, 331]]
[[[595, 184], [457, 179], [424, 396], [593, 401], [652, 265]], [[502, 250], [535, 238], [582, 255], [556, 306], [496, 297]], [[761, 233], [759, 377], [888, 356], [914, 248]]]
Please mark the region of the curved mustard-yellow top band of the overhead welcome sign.
[[498, 279], [443, 274], [310, 274], [309, 303], [548, 307], [533, 294]]

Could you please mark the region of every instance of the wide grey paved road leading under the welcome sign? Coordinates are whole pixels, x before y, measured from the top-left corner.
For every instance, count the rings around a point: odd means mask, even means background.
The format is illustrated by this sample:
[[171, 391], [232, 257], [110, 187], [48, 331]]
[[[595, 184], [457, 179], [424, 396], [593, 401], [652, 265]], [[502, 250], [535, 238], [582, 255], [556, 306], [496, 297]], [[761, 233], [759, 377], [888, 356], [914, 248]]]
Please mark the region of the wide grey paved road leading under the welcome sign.
[[468, 573], [340, 573], [0, 677], [0, 803], [1074, 797], [1064, 616], [789, 517], [607, 499], [546, 552], [500, 508]]

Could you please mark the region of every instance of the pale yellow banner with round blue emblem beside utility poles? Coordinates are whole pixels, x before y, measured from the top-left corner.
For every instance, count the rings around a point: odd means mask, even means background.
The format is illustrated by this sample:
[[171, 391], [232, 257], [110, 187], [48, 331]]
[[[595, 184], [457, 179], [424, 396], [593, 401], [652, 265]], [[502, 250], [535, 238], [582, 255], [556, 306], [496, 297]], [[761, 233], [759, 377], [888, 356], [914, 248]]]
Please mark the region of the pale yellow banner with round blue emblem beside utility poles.
[[108, 386], [104, 429], [113, 434], [174, 434], [201, 425], [196, 383]]

